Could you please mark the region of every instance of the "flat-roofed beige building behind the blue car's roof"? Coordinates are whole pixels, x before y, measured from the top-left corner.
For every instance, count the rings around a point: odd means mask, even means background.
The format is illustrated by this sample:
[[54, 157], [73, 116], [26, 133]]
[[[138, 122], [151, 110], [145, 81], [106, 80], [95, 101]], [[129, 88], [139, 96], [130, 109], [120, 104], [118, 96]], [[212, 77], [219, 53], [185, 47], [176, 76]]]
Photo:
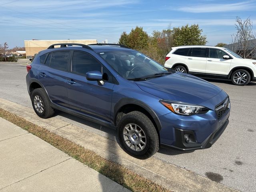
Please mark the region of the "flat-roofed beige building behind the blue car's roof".
[[36, 53], [47, 49], [52, 44], [57, 43], [79, 43], [79, 44], [94, 44], [97, 43], [96, 39], [85, 39], [85, 40], [25, 40], [26, 56], [30, 58]]

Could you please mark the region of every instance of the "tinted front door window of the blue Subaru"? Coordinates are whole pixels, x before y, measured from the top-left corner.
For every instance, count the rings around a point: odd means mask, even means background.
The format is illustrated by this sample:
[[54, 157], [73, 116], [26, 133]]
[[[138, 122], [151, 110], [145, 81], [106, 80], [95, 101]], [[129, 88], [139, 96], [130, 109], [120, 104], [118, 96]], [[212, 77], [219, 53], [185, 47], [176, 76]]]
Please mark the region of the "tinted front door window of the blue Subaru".
[[74, 51], [72, 72], [85, 76], [89, 71], [101, 72], [101, 63], [87, 53]]

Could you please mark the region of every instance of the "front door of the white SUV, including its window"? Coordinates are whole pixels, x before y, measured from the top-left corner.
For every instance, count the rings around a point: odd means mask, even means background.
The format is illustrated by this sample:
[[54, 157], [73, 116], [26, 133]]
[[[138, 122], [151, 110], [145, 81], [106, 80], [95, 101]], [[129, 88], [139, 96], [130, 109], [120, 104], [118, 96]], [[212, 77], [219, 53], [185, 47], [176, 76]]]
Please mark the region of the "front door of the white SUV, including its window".
[[217, 48], [209, 48], [209, 58], [207, 58], [205, 73], [227, 75], [231, 59], [223, 59], [224, 55], [228, 54]]

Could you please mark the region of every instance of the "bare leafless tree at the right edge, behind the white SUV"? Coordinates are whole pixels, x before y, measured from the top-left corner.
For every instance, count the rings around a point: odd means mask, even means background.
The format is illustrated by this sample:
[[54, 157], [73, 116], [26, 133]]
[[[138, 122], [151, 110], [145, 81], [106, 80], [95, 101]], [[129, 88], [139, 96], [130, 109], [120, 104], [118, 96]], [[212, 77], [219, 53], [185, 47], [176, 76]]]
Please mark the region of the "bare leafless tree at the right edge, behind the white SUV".
[[250, 17], [242, 20], [236, 17], [236, 34], [232, 35], [232, 51], [243, 58], [254, 58], [256, 54], [256, 38], [252, 32], [252, 21]]

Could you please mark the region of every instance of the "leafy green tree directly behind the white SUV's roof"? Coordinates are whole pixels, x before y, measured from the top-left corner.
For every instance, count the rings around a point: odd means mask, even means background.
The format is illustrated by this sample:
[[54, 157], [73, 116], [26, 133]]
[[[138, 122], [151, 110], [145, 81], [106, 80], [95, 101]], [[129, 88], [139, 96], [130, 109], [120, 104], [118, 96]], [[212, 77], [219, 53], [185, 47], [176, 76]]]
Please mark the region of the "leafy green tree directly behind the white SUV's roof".
[[202, 35], [202, 29], [199, 28], [198, 24], [191, 26], [182, 26], [181, 28], [173, 28], [173, 46], [180, 45], [205, 45], [206, 36]]

